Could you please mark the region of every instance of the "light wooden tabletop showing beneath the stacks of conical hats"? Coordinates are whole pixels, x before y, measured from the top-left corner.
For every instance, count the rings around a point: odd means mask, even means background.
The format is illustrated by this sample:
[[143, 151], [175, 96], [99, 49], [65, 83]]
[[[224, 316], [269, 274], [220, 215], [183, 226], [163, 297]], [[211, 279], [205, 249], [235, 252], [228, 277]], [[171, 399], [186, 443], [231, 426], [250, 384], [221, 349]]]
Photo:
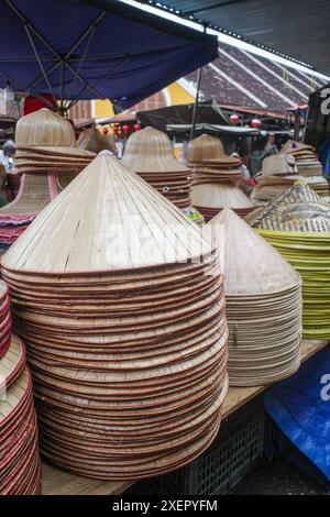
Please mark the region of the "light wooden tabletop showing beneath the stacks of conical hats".
[[[301, 362], [327, 346], [328, 342], [327, 340], [304, 340], [301, 343]], [[229, 388], [223, 405], [222, 418], [228, 418], [267, 387], [268, 385]], [[134, 482], [89, 480], [43, 464], [43, 495], [118, 495], [122, 494]]]

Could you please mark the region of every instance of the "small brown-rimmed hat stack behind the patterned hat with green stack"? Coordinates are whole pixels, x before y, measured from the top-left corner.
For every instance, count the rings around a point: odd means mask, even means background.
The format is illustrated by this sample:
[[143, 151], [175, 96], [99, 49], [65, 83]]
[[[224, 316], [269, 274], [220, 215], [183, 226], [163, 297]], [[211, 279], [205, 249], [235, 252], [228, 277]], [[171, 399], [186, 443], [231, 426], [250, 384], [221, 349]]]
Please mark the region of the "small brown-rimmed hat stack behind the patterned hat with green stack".
[[315, 147], [311, 145], [288, 140], [280, 152], [292, 154], [295, 157], [298, 173], [302, 176], [318, 176], [322, 174], [322, 165], [316, 154]]

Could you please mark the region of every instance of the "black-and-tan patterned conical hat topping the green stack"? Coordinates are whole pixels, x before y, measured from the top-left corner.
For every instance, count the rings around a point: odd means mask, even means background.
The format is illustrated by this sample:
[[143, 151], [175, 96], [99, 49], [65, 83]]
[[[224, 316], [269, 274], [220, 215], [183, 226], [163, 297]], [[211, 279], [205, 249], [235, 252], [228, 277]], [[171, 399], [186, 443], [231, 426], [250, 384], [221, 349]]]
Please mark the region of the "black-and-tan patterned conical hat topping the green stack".
[[329, 233], [330, 207], [308, 185], [298, 183], [246, 220], [264, 230]]

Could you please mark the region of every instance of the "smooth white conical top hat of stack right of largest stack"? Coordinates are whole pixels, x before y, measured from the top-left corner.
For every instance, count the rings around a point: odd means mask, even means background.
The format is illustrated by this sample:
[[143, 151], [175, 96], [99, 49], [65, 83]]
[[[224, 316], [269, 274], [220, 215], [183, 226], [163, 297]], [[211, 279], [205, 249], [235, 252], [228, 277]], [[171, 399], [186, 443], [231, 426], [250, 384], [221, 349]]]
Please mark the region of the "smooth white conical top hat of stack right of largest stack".
[[210, 222], [224, 233], [224, 293], [231, 296], [279, 293], [300, 283], [298, 273], [265, 239], [226, 208]]

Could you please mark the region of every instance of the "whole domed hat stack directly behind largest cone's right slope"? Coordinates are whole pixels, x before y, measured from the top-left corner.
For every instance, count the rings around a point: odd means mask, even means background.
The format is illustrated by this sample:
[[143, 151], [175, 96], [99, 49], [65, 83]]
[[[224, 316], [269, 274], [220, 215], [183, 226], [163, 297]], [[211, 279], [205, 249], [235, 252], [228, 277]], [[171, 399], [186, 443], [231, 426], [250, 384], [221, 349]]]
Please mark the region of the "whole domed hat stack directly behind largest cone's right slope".
[[[191, 173], [175, 158], [170, 141], [163, 131], [144, 128], [133, 133], [122, 162], [176, 207], [186, 209], [189, 217]], [[195, 217], [195, 222], [202, 223], [202, 216]]]

